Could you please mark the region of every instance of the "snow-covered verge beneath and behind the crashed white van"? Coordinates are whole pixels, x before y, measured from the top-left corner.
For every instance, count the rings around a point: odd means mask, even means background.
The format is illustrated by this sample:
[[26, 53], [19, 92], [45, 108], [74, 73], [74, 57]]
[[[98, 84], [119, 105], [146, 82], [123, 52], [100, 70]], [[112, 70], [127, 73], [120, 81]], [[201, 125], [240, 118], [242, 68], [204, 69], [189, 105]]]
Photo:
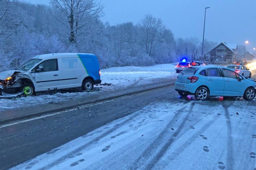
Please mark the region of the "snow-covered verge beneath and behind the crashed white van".
[[110, 86], [95, 86], [94, 92], [83, 92], [80, 88], [65, 89], [62, 91], [40, 92], [36, 96], [4, 99], [0, 98], [1, 109], [10, 109], [21, 106], [30, 106], [36, 104], [45, 104], [49, 102], [61, 102], [71, 100], [75, 97], [91, 97], [96, 93], [113, 91], [127, 87], [134, 87], [141, 84], [148, 84], [153, 79], [170, 78], [176, 79], [175, 65], [159, 64], [154, 66], [125, 66], [113, 67], [101, 70], [102, 84], [111, 84]]

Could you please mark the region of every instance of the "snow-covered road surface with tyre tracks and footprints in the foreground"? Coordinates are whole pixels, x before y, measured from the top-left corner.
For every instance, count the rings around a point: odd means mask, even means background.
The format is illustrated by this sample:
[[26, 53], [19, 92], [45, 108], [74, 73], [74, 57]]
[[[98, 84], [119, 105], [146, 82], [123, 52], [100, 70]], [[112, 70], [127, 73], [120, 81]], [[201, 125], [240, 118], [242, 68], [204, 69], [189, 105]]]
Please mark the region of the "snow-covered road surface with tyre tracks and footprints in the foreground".
[[255, 170], [255, 101], [169, 98], [12, 170]]

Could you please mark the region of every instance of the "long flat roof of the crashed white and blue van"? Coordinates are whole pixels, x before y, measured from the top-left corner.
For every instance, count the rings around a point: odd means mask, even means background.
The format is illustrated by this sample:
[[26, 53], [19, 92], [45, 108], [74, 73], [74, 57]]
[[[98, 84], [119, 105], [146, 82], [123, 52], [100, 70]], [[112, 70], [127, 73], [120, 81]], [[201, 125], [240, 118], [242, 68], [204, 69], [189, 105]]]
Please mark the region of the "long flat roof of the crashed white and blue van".
[[52, 53], [52, 54], [43, 54], [43, 55], [38, 55], [33, 57], [33, 59], [43, 59], [43, 60], [48, 60], [48, 59], [58, 59], [58, 58], [63, 58], [63, 57], [74, 57], [78, 55], [87, 55], [87, 56], [95, 56], [94, 54], [87, 54], [87, 53]]

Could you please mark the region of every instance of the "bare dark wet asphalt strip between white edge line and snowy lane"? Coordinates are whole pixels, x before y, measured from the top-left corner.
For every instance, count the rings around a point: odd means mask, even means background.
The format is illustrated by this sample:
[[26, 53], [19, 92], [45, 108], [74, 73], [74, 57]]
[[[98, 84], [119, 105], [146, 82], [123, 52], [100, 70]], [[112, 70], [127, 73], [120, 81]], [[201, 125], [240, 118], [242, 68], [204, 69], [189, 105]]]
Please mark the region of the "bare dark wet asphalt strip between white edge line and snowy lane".
[[173, 86], [83, 106], [83, 109], [23, 123], [0, 126], [0, 169], [7, 169], [93, 129], [177, 93]]

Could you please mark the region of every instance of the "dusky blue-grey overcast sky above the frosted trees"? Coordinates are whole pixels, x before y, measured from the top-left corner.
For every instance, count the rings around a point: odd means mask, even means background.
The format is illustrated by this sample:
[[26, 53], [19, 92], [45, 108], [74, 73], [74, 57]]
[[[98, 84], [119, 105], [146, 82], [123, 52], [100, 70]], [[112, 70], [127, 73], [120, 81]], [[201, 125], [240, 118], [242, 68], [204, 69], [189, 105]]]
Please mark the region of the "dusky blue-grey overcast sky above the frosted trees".
[[[24, 0], [49, 4], [49, 0]], [[101, 0], [105, 6], [103, 22], [110, 25], [132, 21], [137, 23], [145, 14], [161, 18], [175, 38], [205, 38], [209, 41], [244, 44], [248, 51], [256, 47], [256, 0]], [[201, 40], [202, 41], [202, 40]]]

